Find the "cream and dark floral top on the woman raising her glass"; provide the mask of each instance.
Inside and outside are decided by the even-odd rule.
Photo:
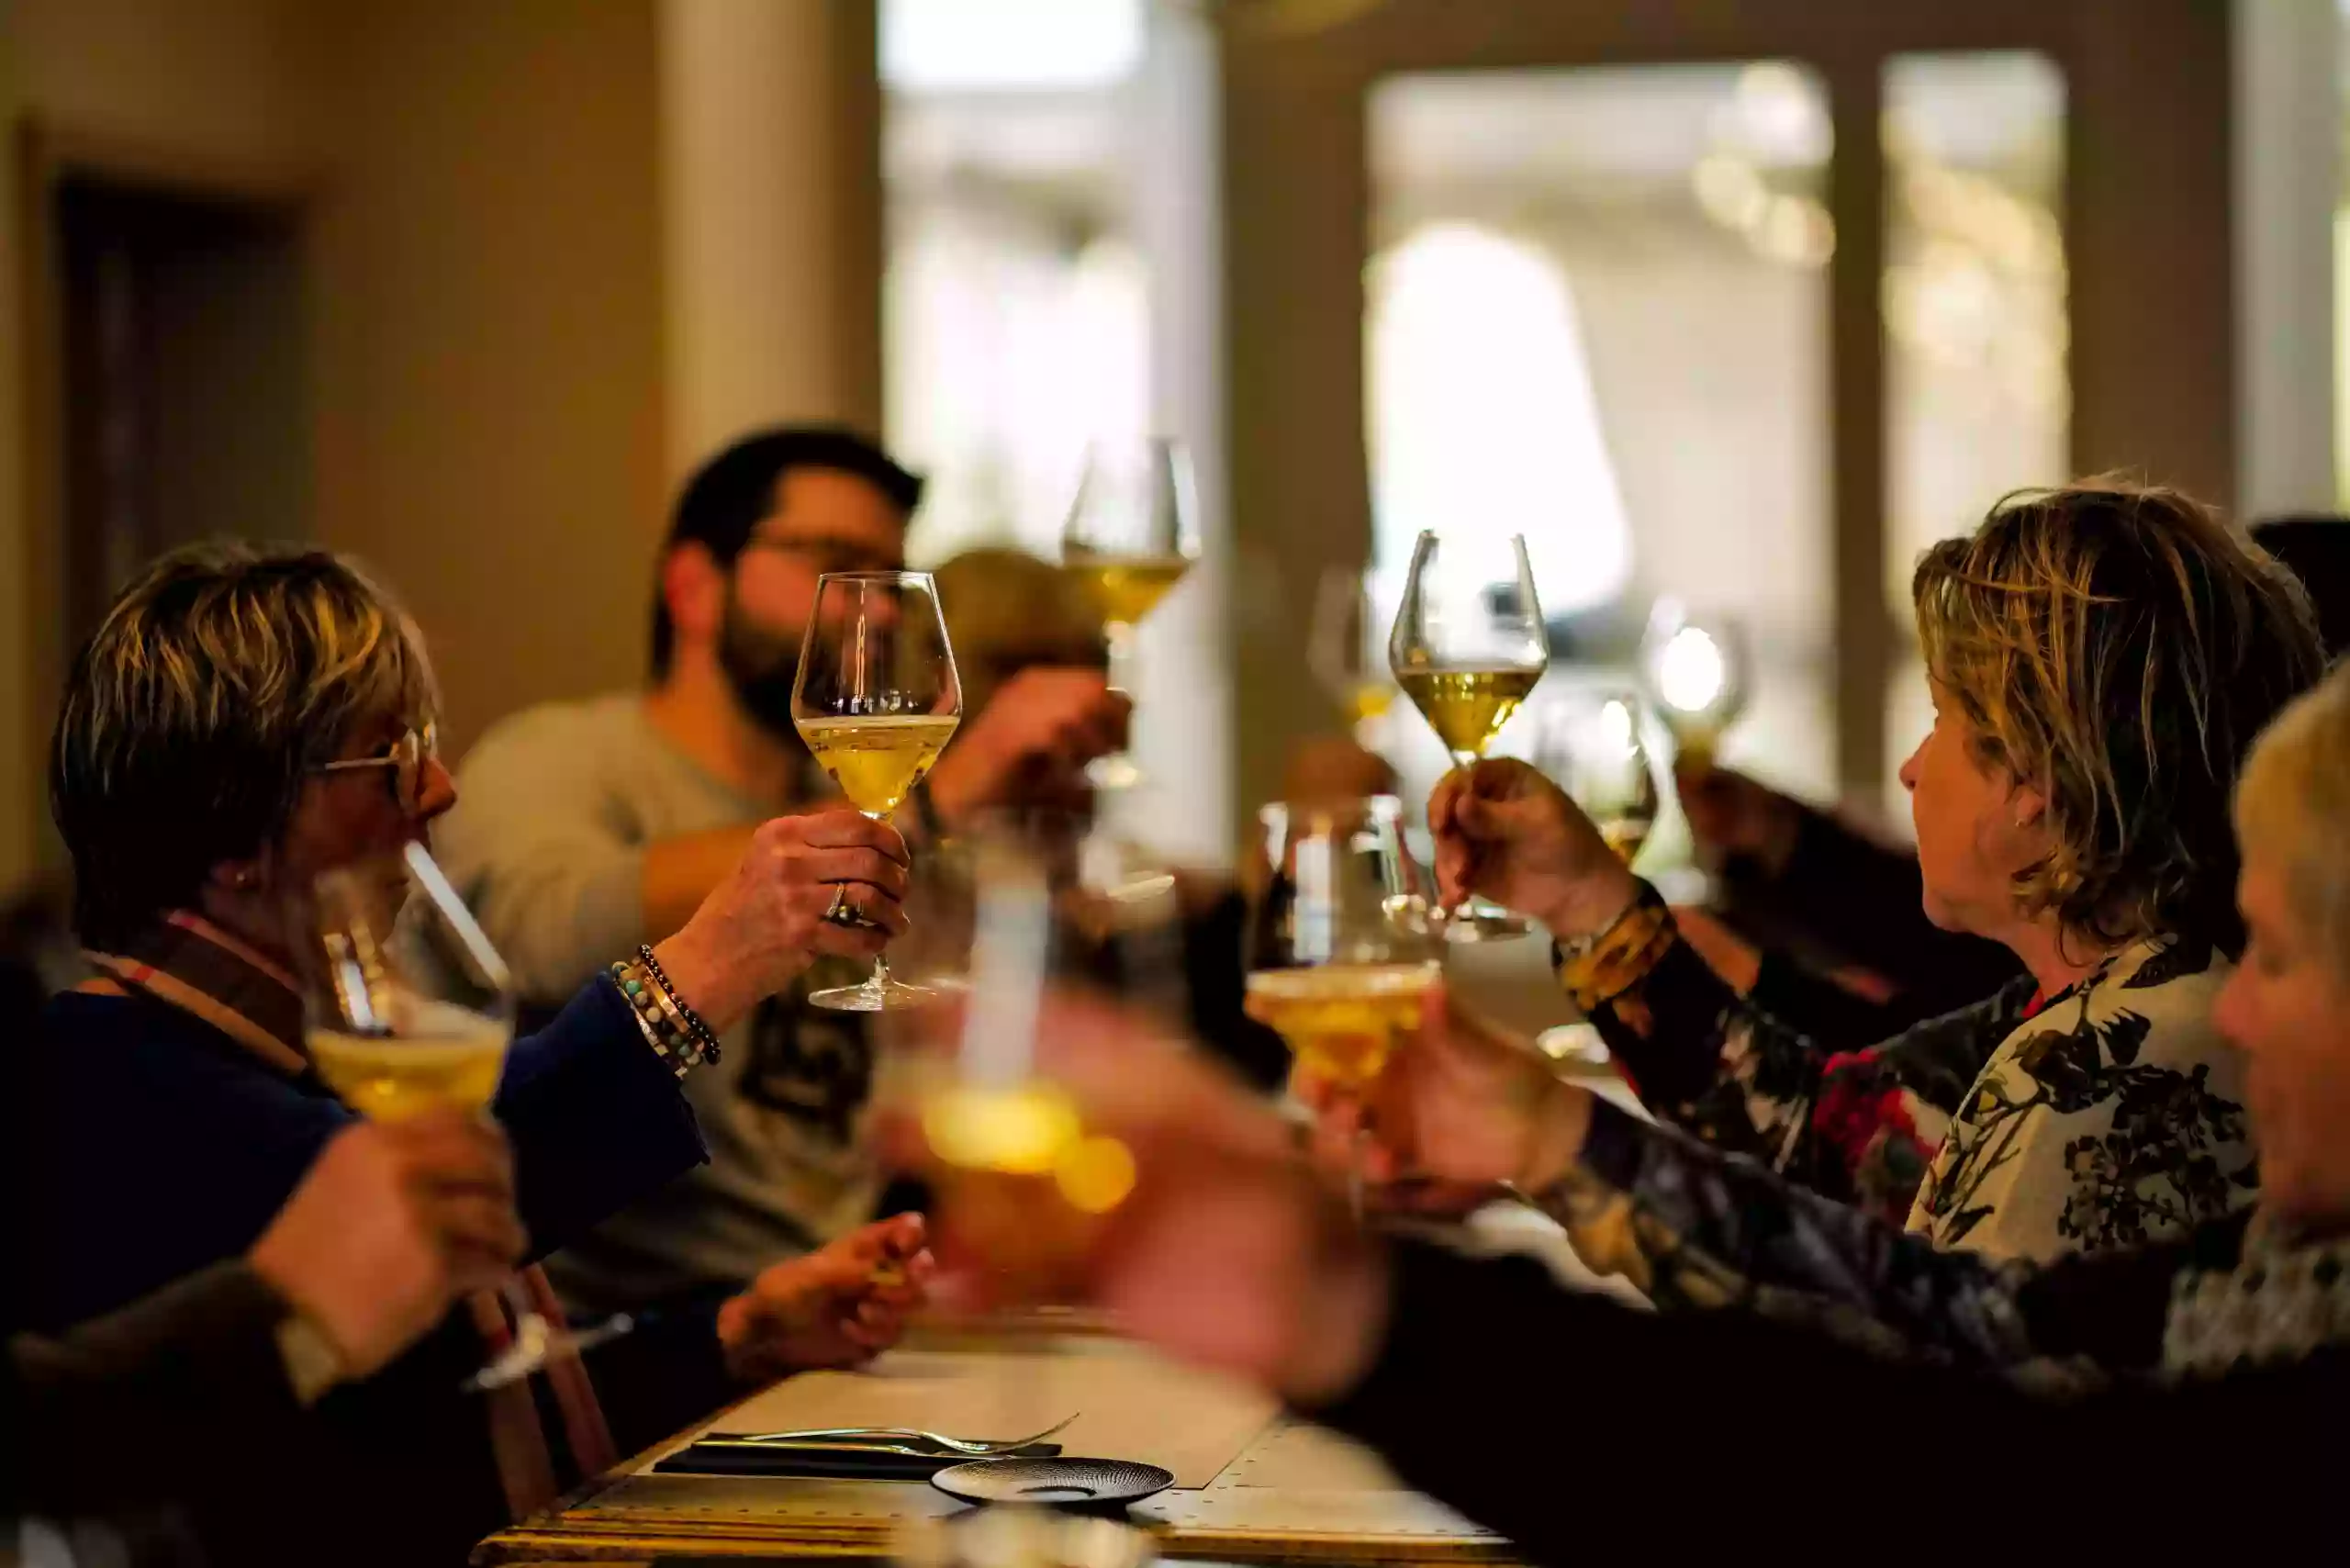
[[[2256,1197],[2228,961],[2190,938],[2030,978],[1854,1053],[1732,992],[1650,893],[1560,983],[1661,1119],[1934,1246],[2049,1262],[2183,1237]]]

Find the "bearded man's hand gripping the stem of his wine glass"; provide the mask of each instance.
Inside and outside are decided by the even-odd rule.
[[[1086,764],[1126,745],[1133,703],[1079,665],[1029,665],[964,719],[931,769],[931,802],[947,820],[996,806],[1081,806]]]

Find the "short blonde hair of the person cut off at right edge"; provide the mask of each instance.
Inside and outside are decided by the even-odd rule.
[[[2265,863],[2287,865],[2294,919],[2336,973],[2350,973],[2350,668],[2261,731],[2235,788],[2235,830]]]

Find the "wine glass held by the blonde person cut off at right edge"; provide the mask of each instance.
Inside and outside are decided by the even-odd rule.
[[[1368,1093],[1443,971],[1443,919],[1405,853],[1403,802],[1274,804],[1257,823],[1248,1013],[1307,1074]],[[1349,1197],[1361,1213],[1361,1159]]]

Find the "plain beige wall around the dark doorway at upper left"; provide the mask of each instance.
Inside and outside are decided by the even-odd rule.
[[[313,193],[317,531],[432,637],[463,745],[642,665],[663,487],[653,0],[12,0],[0,118]],[[0,165],[0,889],[38,858],[54,538]]]

